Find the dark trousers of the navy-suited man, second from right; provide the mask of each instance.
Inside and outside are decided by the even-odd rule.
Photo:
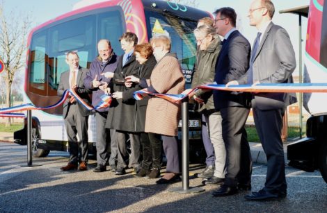
[[[244,125],[249,108],[228,107],[221,109],[223,140],[226,148],[225,185],[249,185],[252,174],[252,157]]]

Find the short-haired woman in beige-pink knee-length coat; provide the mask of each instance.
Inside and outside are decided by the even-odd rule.
[[[171,42],[166,36],[154,37],[151,41],[157,65],[154,67],[149,92],[180,94],[185,80],[175,53],[170,53]],[[180,180],[180,160],[178,154],[177,128],[180,120],[180,104],[152,96],[147,104],[145,132],[160,134],[163,151],[167,158],[165,175],[157,184]]]

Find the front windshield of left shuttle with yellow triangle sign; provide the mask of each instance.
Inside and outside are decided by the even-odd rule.
[[[196,62],[196,38],[193,30],[197,20],[184,19],[173,13],[154,12],[145,10],[147,22],[147,37],[153,37],[156,31],[168,35],[172,40],[171,52],[177,53],[186,80],[186,87],[190,87],[192,72]]]

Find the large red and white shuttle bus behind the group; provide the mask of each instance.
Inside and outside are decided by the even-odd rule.
[[[138,35],[139,43],[148,42],[154,35],[168,35],[172,51],[177,53],[182,70],[190,87],[196,61],[196,39],[193,30],[198,19],[210,17],[208,12],[157,0],[111,0],[79,6],[71,12],[51,19],[31,31],[28,38],[27,65],[24,90],[26,102],[36,106],[56,103],[61,73],[67,51],[78,51],[81,67],[90,67],[97,56],[97,41],[109,39],[119,56],[119,37],[131,31]],[[98,1],[99,2],[99,1]],[[49,151],[67,151],[67,136],[62,107],[50,110],[33,110],[33,155],[47,156]],[[190,139],[201,142],[200,117],[190,114]],[[89,118],[90,151],[95,150],[97,137],[95,118]],[[26,125],[14,134],[17,144],[26,144]],[[191,145],[191,144],[190,144]],[[191,146],[190,146],[191,147]]]

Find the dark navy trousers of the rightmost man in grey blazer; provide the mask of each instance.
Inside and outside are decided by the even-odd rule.
[[[260,110],[253,108],[255,127],[267,158],[264,190],[271,194],[286,194],[285,159],[282,146],[282,115],[285,109]]]

